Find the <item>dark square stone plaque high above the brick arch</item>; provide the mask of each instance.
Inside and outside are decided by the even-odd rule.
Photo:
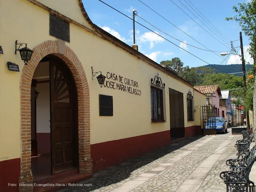
[[[50,14],[50,35],[70,42],[69,23]]]

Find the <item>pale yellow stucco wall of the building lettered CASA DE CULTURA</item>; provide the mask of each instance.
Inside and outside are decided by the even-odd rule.
[[[1,0],[0,3],[0,45],[4,49],[4,55],[0,55],[0,80],[4,80],[0,81],[0,145],[3,146],[0,148],[0,157],[1,160],[6,160],[20,157],[20,78],[24,63],[19,53],[14,54],[14,42],[27,42],[28,48],[33,49],[41,42],[56,38],[49,35],[49,13],[42,8],[26,0]],[[67,4],[69,1],[62,1],[60,9],[68,9],[65,6]],[[19,16],[10,12],[19,13]],[[71,11],[68,13],[72,14]],[[17,32],[17,29],[24,29],[25,21],[26,30]],[[70,43],[66,42],[66,45],[76,53],[87,76],[90,90],[91,144],[170,130],[168,88],[184,93],[185,127],[200,124],[199,110],[196,107],[194,122],[187,121],[186,94],[192,87],[74,24],[70,24]],[[18,64],[20,72],[8,71],[8,61]],[[112,88],[100,88],[97,80],[92,80],[91,66],[94,71],[100,70],[105,76],[107,72],[112,72],[138,82],[137,89],[141,91],[141,96]],[[151,124],[150,79],[157,73],[166,84],[167,122]],[[99,94],[113,96],[114,116],[99,116]],[[194,94],[194,106],[204,105],[205,96],[196,92]]]

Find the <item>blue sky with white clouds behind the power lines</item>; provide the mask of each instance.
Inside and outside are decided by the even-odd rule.
[[[143,24],[144,26],[150,28],[157,34],[160,34],[164,38],[170,40],[174,44],[184,48],[188,52],[198,56],[202,60],[210,64],[238,64],[241,63],[240,57],[235,55],[226,56],[226,60],[223,60],[224,57],[220,56],[220,52],[216,54],[210,51],[199,50],[187,44],[202,48],[210,49],[212,51],[230,51],[230,40],[238,40],[239,32],[241,31],[240,26],[234,21],[226,21],[226,17],[234,16],[235,13],[232,9],[232,6],[237,5],[239,2],[246,2],[246,0],[141,0],[144,4],[158,12],[172,24],[176,25],[178,28],[186,32],[192,38],[200,42],[196,42],[182,31],[174,27],[168,21],[164,20],[158,16],[155,12],[150,10],[139,0],[102,0],[106,4],[116,8],[120,12],[126,14],[132,18],[132,10],[136,9],[138,16],[157,27],[154,28],[152,25],[146,23],[144,20],[136,16],[136,21]],[[248,0],[247,0],[248,1]],[[92,22],[110,34],[116,36],[120,40],[124,41],[128,45],[133,44],[132,38],[132,20],[123,16],[122,14],[116,12],[112,8],[106,6],[98,0],[83,0],[84,7],[88,16]],[[186,12],[191,18],[189,18],[182,10],[180,10],[176,5],[178,5],[184,12]],[[182,4],[184,4],[192,13],[194,13],[196,18],[188,9],[186,9]],[[214,25],[209,26],[204,20],[198,15],[200,14],[197,10],[197,13],[190,7],[196,8]],[[194,5],[194,6],[193,6]],[[206,27],[202,22],[208,27]],[[207,21],[207,20],[206,20]],[[208,22],[208,21],[207,21]],[[216,28],[218,30],[216,30]],[[212,30],[212,31],[211,31]],[[192,56],[188,52],[181,50],[172,43],[164,40],[160,36],[154,34],[150,30],[135,24],[136,32],[136,44],[139,46],[139,51],[142,54],[145,54],[152,60],[160,63],[162,60],[171,60],[174,57],[179,57],[184,66],[196,67],[207,65],[202,60]],[[210,34],[214,37],[212,37]],[[215,34],[214,34],[215,33]],[[222,35],[223,34],[223,35]],[[184,44],[170,36],[185,42]],[[243,33],[243,44],[244,52],[248,48],[248,37]],[[216,40],[217,39],[217,40]],[[219,42],[220,41],[220,42]],[[234,42],[234,47],[240,46],[240,42]],[[236,48],[240,53],[240,48]],[[220,57],[219,57],[220,56]],[[245,53],[245,59],[247,62],[253,63],[250,60],[248,53]]]

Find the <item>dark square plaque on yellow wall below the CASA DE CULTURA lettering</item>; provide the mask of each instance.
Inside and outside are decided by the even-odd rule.
[[[99,95],[100,116],[113,116],[113,97]]]

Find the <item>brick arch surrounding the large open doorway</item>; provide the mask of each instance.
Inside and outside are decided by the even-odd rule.
[[[82,63],[76,54],[65,46],[65,53],[58,53],[57,41],[45,41],[33,49],[31,60],[24,66],[20,82],[21,109],[21,166],[20,183],[32,184],[31,172],[31,104],[30,90],[34,71],[40,60],[48,54],[54,54],[63,60],[72,72],[76,83],[78,97],[78,143],[79,143],[79,172],[92,174],[92,159],[90,157],[90,97],[86,74]],[[26,188],[26,190],[25,190]],[[20,187],[20,191],[31,191],[33,188]]]

